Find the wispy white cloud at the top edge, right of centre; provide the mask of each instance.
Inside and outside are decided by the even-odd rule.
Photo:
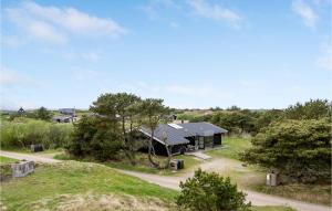
[[[235,11],[222,8],[219,4],[209,4],[205,0],[188,0],[189,6],[194,9],[195,13],[216,21],[226,21],[234,27],[239,27],[241,18]]]

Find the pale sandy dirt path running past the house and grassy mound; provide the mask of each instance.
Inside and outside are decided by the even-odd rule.
[[[9,152],[2,150],[0,150],[0,155],[9,158],[25,159],[25,160],[32,160],[38,162],[48,162],[48,163],[61,162],[60,160],[55,160],[53,158],[42,157],[42,155],[28,155],[28,154]],[[204,162],[199,167],[203,170],[220,171],[230,166],[234,166],[234,163],[231,163],[231,160],[229,159],[215,159],[211,161]],[[175,190],[179,190],[178,184],[180,181],[185,181],[187,178],[194,175],[194,172],[188,172],[175,177],[175,176],[158,176],[158,175],[126,171],[126,170],[118,170],[118,171]],[[247,200],[251,201],[251,203],[255,205],[290,205],[292,208],[295,208],[298,211],[331,211],[332,210],[330,207],[307,203],[302,201],[269,196],[269,194],[259,193],[255,191],[243,190],[243,192],[248,194]]]

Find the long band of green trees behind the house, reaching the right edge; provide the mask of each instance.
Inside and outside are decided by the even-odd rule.
[[[249,134],[255,136],[272,122],[282,119],[319,119],[331,118],[331,103],[328,99],[311,99],[304,104],[297,103],[287,109],[241,109],[231,106],[227,109],[212,108],[211,114],[186,115],[180,114],[180,119],[189,122],[210,122],[228,130],[229,135]]]

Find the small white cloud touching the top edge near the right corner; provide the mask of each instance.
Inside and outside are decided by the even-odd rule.
[[[315,27],[318,15],[308,3],[304,3],[302,0],[295,0],[292,3],[292,10],[303,19],[307,27]]]

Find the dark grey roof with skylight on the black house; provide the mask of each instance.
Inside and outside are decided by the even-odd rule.
[[[151,137],[151,129],[142,128],[141,131]],[[154,139],[168,145],[188,144],[186,137],[211,136],[214,134],[225,134],[226,129],[209,123],[185,123],[185,124],[160,124],[154,131]]]

